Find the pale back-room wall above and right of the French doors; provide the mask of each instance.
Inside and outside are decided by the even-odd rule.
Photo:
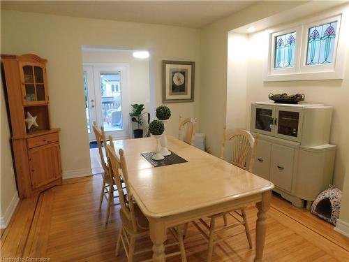
[[[143,112],[150,112],[150,83],[149,83],[149,59],[133,57],[133,51],[129,50],[103,50],[83,49],[82,62],[85,63],[106,63],[106,64],[128,64],[129,81],[128,89],[130,103],[144,104]],[[122,87],[121,87],[122,89]],[[131,112],[131,106],[128,108]],[[147,117],[144,115],[144,128],[147,126]],[[133,123],[133,128],[137,125]]]

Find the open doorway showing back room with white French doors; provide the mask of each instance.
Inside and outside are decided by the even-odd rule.
[[[135,50],[82,46],[85,109],[89,131],[91,169],[103,172],[92,124],[114,140],[133,138],[138,126],[128,115],[131,103],[144,104],[144,112],[155,112],[154,61],[137,58]],[[93,100],[93,101],[92,101]],[[120,120],[121,115],[121,120]],[[114,118],[113,118],[114,117]],[[147,123],[142,126],[147,130]],[[144,132],[145,133],[145,132]]]

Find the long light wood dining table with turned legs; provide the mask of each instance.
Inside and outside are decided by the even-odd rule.
[[[154,168],[140,153],[155,145],[154,138],[114,141],[116,150],[124,150],[133,196],[149,220],[153,261],[165,261],[167,228],[254,203],[254,261],[262,261],[274,184],[172,136],[168,149],[188,162]]]

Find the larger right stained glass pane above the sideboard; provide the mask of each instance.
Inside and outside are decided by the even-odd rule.
[[[334,21],[309,28],[308,52],[306,53],[307,66],[333,62],[337,22]]]

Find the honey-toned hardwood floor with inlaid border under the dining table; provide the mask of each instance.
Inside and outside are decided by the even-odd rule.
[[[50,261],[126,261],[124,251],[114,256],[119,233],[119,208],[105,225],[105,202],[98,210],[101,176],[65,180],[39,196],[20,201],[12,221],[1,232],[1,257],[49,257]],[[247,208],[255,238],[257,209]],[[223,219],[222,219],[223,220]],[[220,221],[223,224],[223,221]],[[349,261],[349,240],[333,226],[305,209],[272,196],[263,261]],[[170,240],[170,237],[169,237]],[[205,261],[207,242],[194,226],[184,240],[188,261]],[[150,247],[140,240],[138,247]],[[245,235],[215,245],[213,261],[253,261]],[[147,259],[151,253],[136,256]],[[180,261],[173,257],[168,261]]]

